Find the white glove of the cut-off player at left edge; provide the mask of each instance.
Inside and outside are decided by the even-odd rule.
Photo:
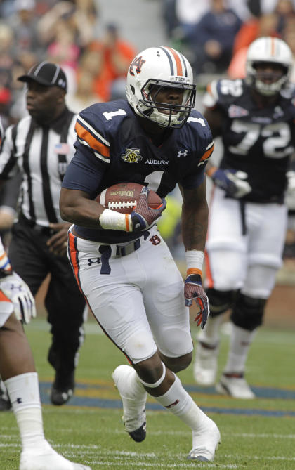
[[[12,273],[0,279],[0,289],[13,303],[16,318],[24,323],[29,323],[36,317],[36,306],[32,292],[25,281],[16,273]]]

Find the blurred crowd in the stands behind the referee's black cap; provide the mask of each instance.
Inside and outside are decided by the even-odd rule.
[[[136,48],[119,38],[116,24],[100,24],[95,0],[4,0],[0,18],[0,114],[5,127],[26,113],[16,77],[41,60],[63,67],[73,111],[122,94]]]

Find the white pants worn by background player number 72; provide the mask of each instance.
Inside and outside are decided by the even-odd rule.
[[[282,266],[287,208],[246,202],[244,223],[243,235],[240,201],[214,188],[206,241],[206,287],[242,289],[243,294],[268,299]]]

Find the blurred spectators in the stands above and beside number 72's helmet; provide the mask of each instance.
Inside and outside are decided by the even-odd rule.
[[[164,0],[163,18],[197,74],[244,77],[247,48],[261,36],[280,37],[295,51],[294,0]]]

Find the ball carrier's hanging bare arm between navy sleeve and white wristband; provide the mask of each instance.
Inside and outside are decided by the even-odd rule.
[[[206,180],[195,189],[181,188],[183,207],[181,233],[185,250],[204,251],[208,227],[208,204],[206,200]]]

